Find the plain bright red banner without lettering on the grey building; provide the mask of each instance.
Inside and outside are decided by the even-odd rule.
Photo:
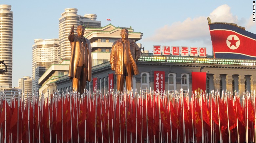
[[[191,72],[192,74],[192,92],[194,93],[195,90],[197,92],[200,91],[200,89],[203,90],[203,92],[206,89],[206,72]]]

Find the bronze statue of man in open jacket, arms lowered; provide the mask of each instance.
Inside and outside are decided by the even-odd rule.
[[[128,39],[128,30],[121,30],[121,39],[115,41],[110,53],[111,69],[117,76],[117,90],[122,92],[124,77],[127,91],[133,87],[133,75],[139,74],[136,62],[140,57],[139,46],[133,40]]]

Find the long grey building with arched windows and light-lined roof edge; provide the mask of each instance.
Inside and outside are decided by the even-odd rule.
[[[244,92],[256,90],[256,60],[214,59],[178,56],[150,56],[142,54],[137,62],[139,74],[133,77],[133,90],[154,89],[154,71],[164,71],[165,90],[192,91],[191,72],[206,72],[206,92],[210,90]],[[98,89],[108,90],[108,76],[114,73],[109,63],[93,67],[92,76],[97,77]],[[115,74],[115,73],[114,73]],[[92,89],[92,81],[88,84]],[[114,90],[116,78],[114,75]]]

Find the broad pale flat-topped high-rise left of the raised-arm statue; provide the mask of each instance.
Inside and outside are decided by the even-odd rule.
[[[32,90],[38,90],[42,85],[38,79],[52,65],[59,61],[58,39],[35,39],[32,47]]]

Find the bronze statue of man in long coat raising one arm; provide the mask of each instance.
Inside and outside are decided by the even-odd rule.
[[[82,94],[86,88],[86,81],[92,78],[91,42],[84,37],[84,26],[78,25],[74,34],[74,25],[71,27],[68,39],[71,44],[71,59],[69,78],[72,80],[73,91]]]

